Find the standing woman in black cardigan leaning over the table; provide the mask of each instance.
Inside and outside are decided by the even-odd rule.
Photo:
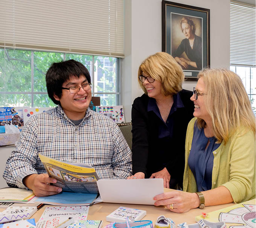
[[[192,92],[182,89],[184,74],[165,52],[146,58],[138,70],[144,91],[132,107],[133,176],[163,178],[164,187],[182,186],[187,124],[193,115]]]

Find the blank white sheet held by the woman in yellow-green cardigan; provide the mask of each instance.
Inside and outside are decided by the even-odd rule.
[[[154,196],[163,193],[163,179],[98,180],[103,202],[154,205]]]

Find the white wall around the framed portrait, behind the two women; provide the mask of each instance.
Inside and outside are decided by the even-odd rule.
[[[210,9],[210,65],[229,68],[229,0],[179,0],[178,3]],[[125,0],[125,59],[123,105],[125,121],[131,120],[131,104],[143,94],[137,82],[140,63],[162,51],[162,0]],[[184,82],[192,90],[195,82]]]

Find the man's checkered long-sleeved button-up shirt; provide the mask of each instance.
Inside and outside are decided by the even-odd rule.
[[[89,108],[78,126],[67,118],[61,106],[31,117],[6,162],[3,178],[9,186],[26,188],[22,182],[25,176],[46,173],[38,153],[89,164],[101,179],[131,175],[131,150],[119,127]]]

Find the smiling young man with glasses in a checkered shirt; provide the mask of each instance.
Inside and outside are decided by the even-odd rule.
[[[46,86],[56,108],[32,117],[24,126],[3,177],[11,187],[29,188],[36,196],[59,193],[38,153],[93,166],[101,179],[131,175],[131,150],[119,127],[108,117],[88,109],[91,78],[75,60],[53,63]]]

